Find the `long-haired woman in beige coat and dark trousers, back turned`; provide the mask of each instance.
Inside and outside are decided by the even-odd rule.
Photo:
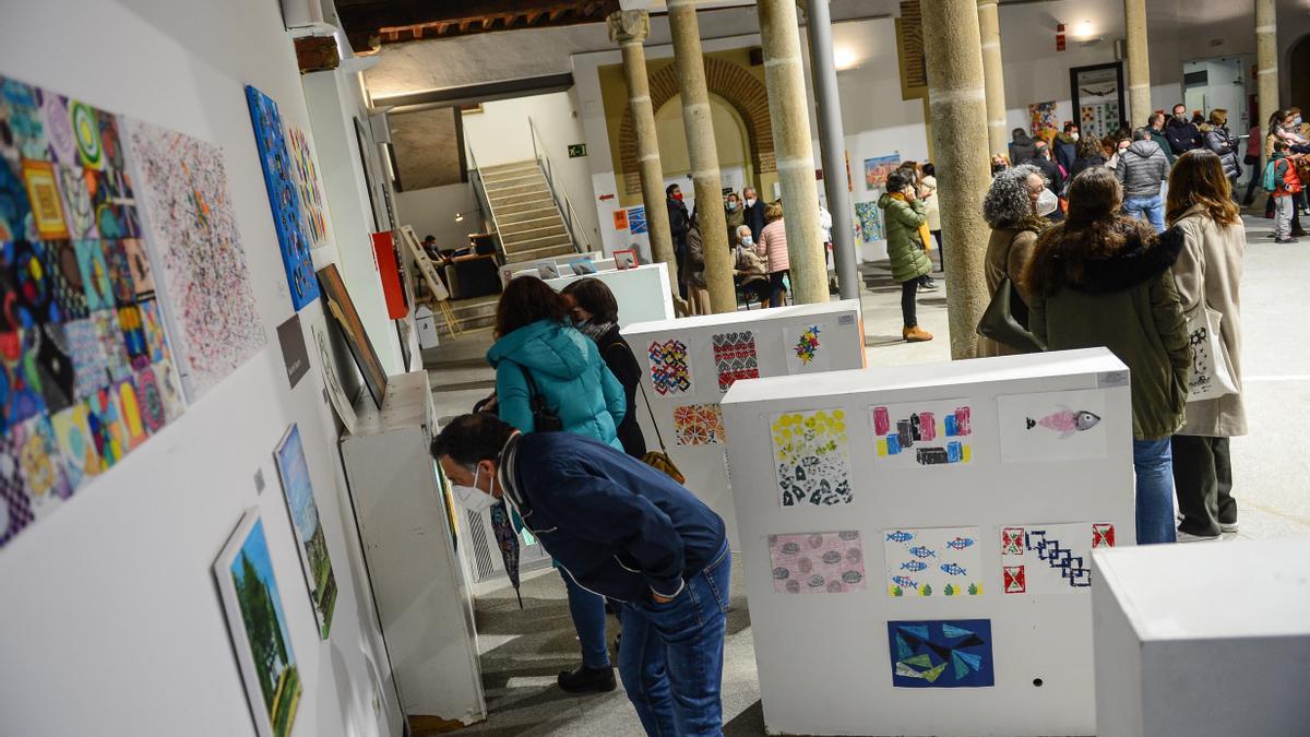
[[[1238,299],[1246,229],[1218,156],[1201,149],[1178,157],[1169,177],[1167,218],[1184,240],[1174,264],[1183,313],[1209,307],[1222,315],[1220,337],[1238,387],[1237,393],[1188,401],[1187,421],[1172,441],[1174,488],[1183,515],[1178,542],[1217,540],[1222,532],[1237,532],[1229,438],[1246,434]]]

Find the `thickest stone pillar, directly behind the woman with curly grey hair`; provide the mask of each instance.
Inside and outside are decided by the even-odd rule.
[[[922,4],[922,13],[937,193],[947,244],[951,358],[973,358],[979,319],[989,302],[982,262],[990,229],[982,220],[982,197],[992,186],[979,12],[976,0],[933,0]]]

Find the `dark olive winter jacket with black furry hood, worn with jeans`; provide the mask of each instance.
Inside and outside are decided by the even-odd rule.
[[[1065,270],[1051,285],[1053,292],[1041,289],[1030,269],[1028,329],[1049,350],[1110,349],[1129,368],[1133,438],[1162,439],[1183,424],[1192,363],[1187,323],[1170,271],[1183,239],[1178,231],[1157,237],[1150,226],[1127,218],[1116,219],[1114,227],[1127,236],[1124,247],[1108,257],[1086,257],[1077,278],[1064,264]],[[1034,265],[1062,237],[1062,224],[1043,233]]]

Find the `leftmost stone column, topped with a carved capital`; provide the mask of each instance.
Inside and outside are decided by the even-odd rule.
[[[673,235],[664,205],[664,167],[659,160],[659,140],[655,136],[655,110],[651,108],[650,80],[646,76],[646,49],[642,42],[650,34],[650,16],[646,10],[618,10],[605,18],[609,39],[624,51],[624,77],[627,81],[627,105],[637,131],[637,167],[642,176],[642,202],[646,203],[646,228],[651,240],[651,257],[668,265],[669,289],[677,294],[677,257],[673,254]]]

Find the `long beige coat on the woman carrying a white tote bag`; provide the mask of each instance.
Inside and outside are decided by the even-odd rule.
[[[1186,424],[1179,435],[1229,438],[1246,434],[1242,401],[1242,316],[1239,286],[1246,228],[1242,223],[1220,226],[1195,206],[1174,223],[1183,236],[1183,250],[1174,262],[1174,283],[1183,315],[1207,306],[1220,320],[1220,341],[1227,353],[1237,393],[1187,403]]]

